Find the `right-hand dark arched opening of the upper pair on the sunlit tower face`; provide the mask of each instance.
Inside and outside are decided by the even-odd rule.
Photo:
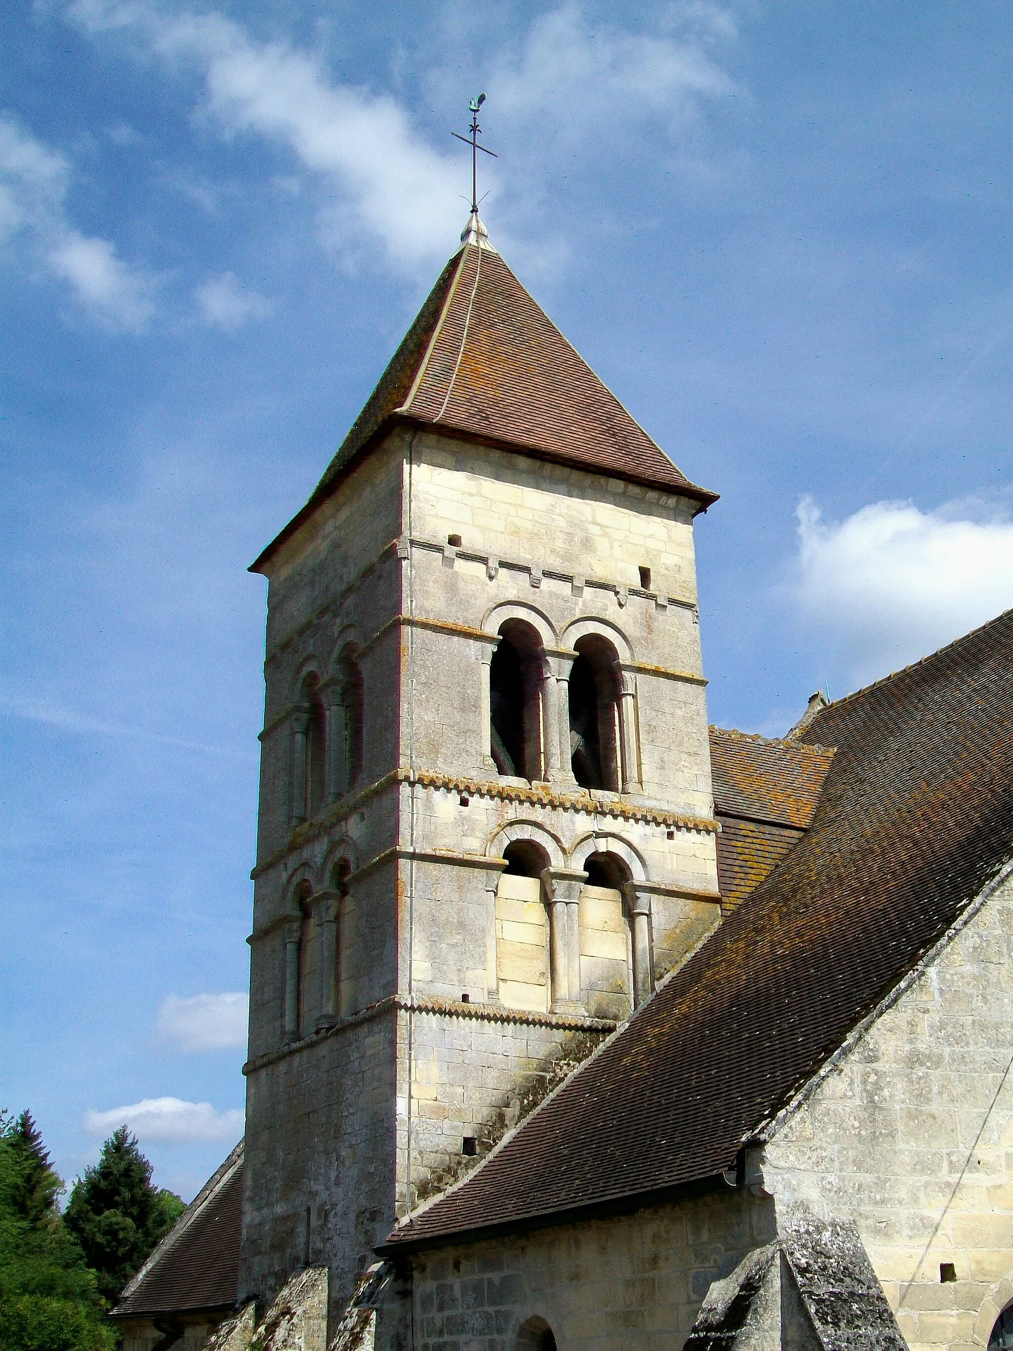
[[[570,763],[581,788],[619,792],[619,654],[600,634],[577,640],[570,670]]]

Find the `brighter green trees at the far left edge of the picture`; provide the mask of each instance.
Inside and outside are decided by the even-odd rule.
[[[0,1112],[0,1351],[108,1351],[95,1273],[57,1208],[63,1183],[27,1112]]]

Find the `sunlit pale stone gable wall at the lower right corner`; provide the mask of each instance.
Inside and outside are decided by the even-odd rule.
[[[778,1208],[854,1220],[912,1348],[985,1346],[1013,1300],[1012,958],[1008,880],[766,1147]]]

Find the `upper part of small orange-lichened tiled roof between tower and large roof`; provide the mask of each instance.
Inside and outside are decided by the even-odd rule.
[[[832,759],[833,747],[712,727],[715,811],[805,830]]]

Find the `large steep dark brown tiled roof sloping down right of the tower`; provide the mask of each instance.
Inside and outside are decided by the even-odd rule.
[[[1013,611],[832,704],[808,834],[513,1136],[430,1243],[716,1177],[1013,854]]]

